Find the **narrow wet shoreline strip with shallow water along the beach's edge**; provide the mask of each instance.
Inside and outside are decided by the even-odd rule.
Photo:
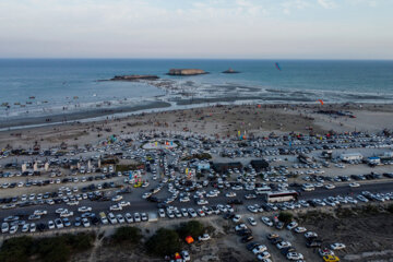
[[[126,119],[132,115],[152,114],[152,112],[168,112],[176,110],[192,110],[192,109],[206,109],[210,107],[230,107],[230,106],[259,106],[261,108],[288,108],[290,110],[299,109],[337,109],[340,110],[371,110],[379,111],[378,108],[382,108],[382,111],[392,111],[393,104],[388,103],[325,103],[324,106],[315,104],[312,99],[310,102],[286,102],[281,103],[267,103],[267,100],[260,99],[260,97],[215,97],[215,98],[191,98],[191,99],[169,99],[168,102],[150,102],[144,105],[136,106],[123,106],[117,108],[100,108],[93,110],[81,110],[67,114],[55,114],[52,116],[38,116],[38,117],[23,117],[15,119],[8,119],[0,122],[0,132],[12,130],[26,130],[34,128],[45,128],[59,124],[72,124],[72,123],[86,123],[86,122],[100,122],[110,119]],[[50,121],[47,121],[50,119]]]

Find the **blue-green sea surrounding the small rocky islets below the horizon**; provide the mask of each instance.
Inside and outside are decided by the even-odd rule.
[[[207,74],[167,75],[172,68]],[[233,69],[239,73],[225,74]],[[114,82],[154,74],[155,83]],[[166,86],[166,87],[163,87]],[[169,87],[168,87],[169,86]],[[168,103],[393,103],[393,61],[209,59],[0,59],[1,119]]]

